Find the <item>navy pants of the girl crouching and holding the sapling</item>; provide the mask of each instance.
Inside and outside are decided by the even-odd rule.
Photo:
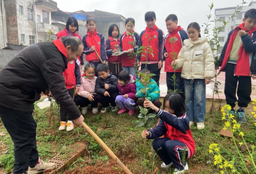
[[[152,143],[153,149],[166,165],[173,163],[174,167],[183,170],[186,161],[182,161],[182,151],[186,145],[180,141],[170,138],[158,138]],[[185,159],[188,157],[188,150],[185,152]]]

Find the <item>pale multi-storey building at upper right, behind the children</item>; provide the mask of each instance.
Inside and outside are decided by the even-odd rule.
[[[220,21],[216,23],[217,27],[223,26],[223,21],[228,21],[229,18],[232,16],[233,13],[235,13],[237,7],[226,7],[226,8],[219,8],[215,9],[215,16],[216,19],[219,19]],[[219,53],[221,53],[224,44],[228,38],[228,33],[233,30],[235,27],[238,27],[241,23],[243,23],[244,14],[247,10],[256,8],[256,0],[251,0],[249,4],[244,5],[240,12],[236,13],[236,17],[233,17],[229,23],[227,23],[226,27],[223,28],[223,30],[219,33],[218,39],[219,39]]]

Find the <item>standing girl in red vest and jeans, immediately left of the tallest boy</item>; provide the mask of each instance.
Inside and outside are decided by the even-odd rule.
[[[140,38],[139,34],[134,31],[134,26],[135,26],[135,20],[129,17],[125,21],[126,31],[121,35],[120,50],[127,51],[127,54],[121,55],[123,70],[126,70],[129,74],[136,77],[137,74],[136,74],[136,70],[134,69],[134,64],[136,64],[135,57],[128,56],[128,54],[132,54],[134,52],[137,52],[138,50],[138,47],[133,47],[132,44],[130,43],[131,41],[135,41],[136,45],[138,45],[138,41]],[[133,32],[133,37],[127,34],[132,32]]]

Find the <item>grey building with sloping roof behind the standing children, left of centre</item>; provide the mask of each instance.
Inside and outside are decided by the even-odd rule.
[[[120,14],[115,13],[109,13],[101,10],[94,10],[85,12],[83,10],[76,11],[74,13],[77,14],[86,14],[88,17],[93,17],[96,20],[96,28],[99,33],[102,33],[103,36],[108,38],[108,29],[111,24],[115,23],[119,30],[120,30],[120,36],[122,33],[125,32],[125,20],[126,18],[123,17]],[[80,26],[79,26],[80,30]],[[85,34],[85,33],[84,33]],[[83,34],[81,34],[83,36]]]

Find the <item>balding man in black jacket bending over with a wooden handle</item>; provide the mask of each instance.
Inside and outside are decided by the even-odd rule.
[[[84,117],[68,94],[62,74],[67,62],[76,60],[83,48],[76,37],[33,44],[0,71],[0,117],[14,143],[13,174],[37,174],[56,167],[41,161],[37,152],[37,124],[32,113],[41,92],[51,91],[74,123],[83,124]]]

